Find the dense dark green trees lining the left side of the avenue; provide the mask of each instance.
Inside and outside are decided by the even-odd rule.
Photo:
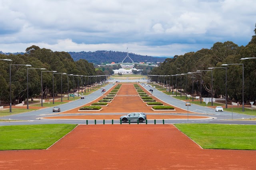
[[[67,73],[74,75],[92,76],[103,75],[101,70],[95,71],[92,63],[84,59],[74,61],[72,57],[66,52],[53,52],[50,49],[40,49],[38,46],[31,46],[26,49],[24,55],[3,55],[0,54],[0,59],[11,59],[12,61],[0,60],[0,101],[10,101],[10,75],[9,69],[11,68],[11,83],[12,83],[12,104],[21,103],[27,98],[27,68],[46,68],[46,70],[57,71],[58,73]],[[10,64],[31,64],[32,66],[26,67],[21,65]],[[28,87],[29,98],[38,96],[41,94],[41,74],[43,82],[43,98],[50,94],[53,95],[52,85],[52,72],[41,72],[40,69],[28,70]],[[43,70],[44,71],[44,70]],[[60,74],[54,74],[54,94],[57,95],[61,89],[61,78],[63,92],[68,91],[68,76]],[[85,78],[85,77],[84,77]],[[87,77],[88,78],[88,77]],[[80,82],[80,76],[69,76],[69,89],[73,89]],[[83,80],[84,82],[84,80]],[[88,84],[88,80],[87,83]]]

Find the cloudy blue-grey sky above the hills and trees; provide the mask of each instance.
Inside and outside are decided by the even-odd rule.
[[[255,19],[255,0],[0,0],[0,51],[173,57],[216,42],[245,46]]]

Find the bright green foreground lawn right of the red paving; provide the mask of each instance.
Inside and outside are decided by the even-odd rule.
[[[256,150],[255,125],[175,124],[204,149]]]

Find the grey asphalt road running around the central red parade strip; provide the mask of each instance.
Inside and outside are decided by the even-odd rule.
[[[108,91],[113,85],[112,82],[128,82],[126,80],[112,80],[110,84],[106,86],[106,90]],[[129,80],[130,81],[130,80]],[[140,83],[146,82],[146,80],[133,80],[133,82],[139,81]],[[153,89],[152,87],[146,87],[144,86],[146,90]],[[66,111],[69,109],[72,109],[74,107],[82,106],[86,103],[89,103],[97,98],[102,96],[101,90],[97,90],[87,96],[85,96],[84,99],[75,100],[72,102],[68,102],[66,104],[62,104],[59,107],[61,108],[61,111]],[[178,100],[173,98],[170,95],[166,95],[163,92],[160,92],[159,90],[153,89],[153,96],[158,98],[159,100],[162,100],[163,102],[166,102],[168,104],[171,104],[175,107],[180,107],[182,109],[188,109],[189,111],[193,111],[196,113],[201,113],[200,115],[204,116],[210,116],[212,119],[165,119],[165,124],[172,124],[172,123],[219,123],[219,124],[250,124],[250,125],[256,125],[256,121],[242,121],[242,119],[249,119],[254,118],[254,116],[250,115],[244,115],[244,114],[238,114],[238,113],[231,113],[231,112],[215,112],[215,109],[212,109],[210,107],[204,107],[204,106],[198,106],[195,104],[192,104],[191,106],[185,106],[185,102],[182,100]],[[93,115],[100,115],[102,113],[93,113]],[[119,114],[119,113],[106,113],[106,114]],[[147,113],[147,114],[155,114],[155,113]],[[157,113],[157,114],[164,114],[164,113]],[[1,119],[12,119],[12,120],[24,120],[24,121],[10,121],[10,122],[0,122],[0,125],[34,125],[34,124],[60,124],[60,123],[70,123],[70,124],[86,124],[86,120],[66,120],[66,119],[58,119],[58,120],[46,120],[46,119],[38,119],[40,117],[45,117],[46,115],[50,116],[59,116],[58,114],[52,114],[52,107],[36,110],[36,111],[30,111],[26,113],[20,113],[16,115],[9,115],[0,117]],[[72,114],[65,114],[65,115],[72,115]],[[74,114],[73,114],[74,115]],[[83,115],[83,114],[81,114]],[[86,115],[91,115],[86,113]],[[170,113],[168,113],[170,115]],[[184,115],[184,114],[175,114],[175,115]],[[186,114],[185,114],[186,115]],[[198,115],[198,114],[189,114],[189,115]],[[233,118],[233,119],[232,119]],[[88,120],[88,124],[94,124],[94,120]],[[97,124],[103,124],[102,120],[97,120]],[[106,124],[111,124],[112,120],[106,120]],[[119,120],[114,120],[114,124],[119,124]],[[137,123],[136,121],[132,121],[131,124]],[[142,123],[146,123],[145,121]],[[154,124],[154,120],[148,120],[148,124]],[[156,124],[162,124],[163,120],[156,120]],[[140,123],[141,124],[141,123]]]

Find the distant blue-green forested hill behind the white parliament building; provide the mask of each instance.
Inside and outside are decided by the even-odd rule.
[[[79,59],[85,59],[89,63],[94,64],[110,64],[112,62],[121,63],[124,58],[127,56],[127,52],[120,52],[120,51],[95,51],[95,52],[68,52],[74,61],[78,61]],[[129,53],[129,57],[135,62],[164,62],[167,57],[152,57],[152,56],[145,56],[145,55],[138,55],[134,53]],[[132,61],[127,57],[124,60],[124,63],[131,63]]]

